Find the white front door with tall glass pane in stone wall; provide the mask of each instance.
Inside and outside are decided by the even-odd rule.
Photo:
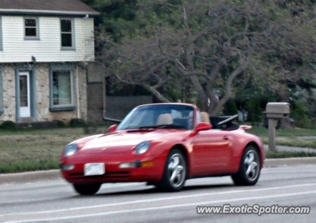
[[[30,72],[20,72],[20,117],[31,117]]]

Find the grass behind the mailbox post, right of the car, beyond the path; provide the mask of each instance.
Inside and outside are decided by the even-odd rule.
[[[264,127],[253,127],[249,133],[256,134],[268,144],[268,129]],[[298,136],[316,136],[316,129],[276,130],[276,145],[286,145],[294,147],[316,148],[316,139],[299,138]]]

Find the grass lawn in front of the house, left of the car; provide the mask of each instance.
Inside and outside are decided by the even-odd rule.
[[[0,130],[0,173],[57,169],[64,146],[84,136],[82,128]]]

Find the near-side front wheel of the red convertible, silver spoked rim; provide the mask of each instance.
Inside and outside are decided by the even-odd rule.
[[[162,179],[155,185],[166,191],[180,191],[187,178],[187,160],[183,152],[179,149],[170,151]]]

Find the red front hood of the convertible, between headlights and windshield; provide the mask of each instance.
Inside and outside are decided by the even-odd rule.
[[[104,151],[107,153],[122,153],[132,150],[137,144],[145,140],[163,140],[166,134],[182,132],[179,130],[129,130],[119,131],[112,134],[104,134],[93,138],[81,147],[80,152]]]

